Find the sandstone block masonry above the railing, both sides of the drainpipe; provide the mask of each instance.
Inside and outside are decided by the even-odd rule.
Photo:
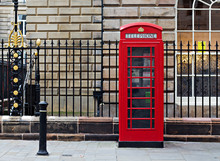
[[[149,22],[163,27],[164,41],[173,41],[174,6],[174,0],[104,0],[104,40],[119,40],[122,25]],[[27,39],[37,39],[34,32],[44,31],[42,39],[100,39],[101,0],[29,0],[27,24]],[[53,36],[54,31],[65,33]]]

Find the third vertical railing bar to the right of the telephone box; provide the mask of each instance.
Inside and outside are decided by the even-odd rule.
[[[183,57],[183,44],[182,41],[180,42],[180,117],[183,117],[183,62],[182,62],[182,57]]]

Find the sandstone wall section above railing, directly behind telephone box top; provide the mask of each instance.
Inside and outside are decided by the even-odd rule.
[[[163,27],[163,40],[175,40],[176,0],[105,0],[104,40],[119,40],[119,28],[134,22]]]

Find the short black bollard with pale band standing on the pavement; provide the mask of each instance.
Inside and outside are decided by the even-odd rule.
[[[37,155],[49,155],[47,152],[47,105],[48,103],[42,101],[40,106],[40,138],[39,151]]]

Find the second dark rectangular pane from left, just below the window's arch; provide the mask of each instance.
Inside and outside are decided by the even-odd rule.
[[[209,29],[209,11],[196,10],[195,11],[195,30]]]

